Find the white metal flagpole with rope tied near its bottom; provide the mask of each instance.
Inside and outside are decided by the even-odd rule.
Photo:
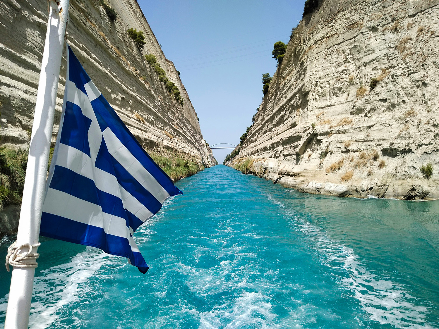
[[[38,243],[40,235],[41,209],[44,201],[61,56],[64,49],[65,27],[68,19],[69,0],[50,0],[48,2],[49,20],[29,145],[17,246],[23,244],[35,245]],[[32,248],[32,253],[36,253],[37,248]],[[23,249],[23,251],[29,250],[28,247],[23,247]],[[20,248],[20,250],[22,249]],[[22,264],[25,263],[26,261],[22,261]],[[14,266],[7,303],[5,329],[28,328],[34,274],[35,267],[20,268]]]

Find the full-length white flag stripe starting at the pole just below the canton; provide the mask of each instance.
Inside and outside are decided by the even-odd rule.
[[[123,207],[141,221],[144,222],[153,215],[139,200],[119,185],[114,175],[94,167],[90,157],[80,150],[60,143],[57,165],[93,180],[99,190],[122,199]]]

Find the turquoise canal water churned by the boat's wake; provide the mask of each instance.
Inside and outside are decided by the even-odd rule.
[[[176,185],[135,233],[146,275],[42,240],[30,327],[439,328],[439,202],[302,194],[222,165]]]

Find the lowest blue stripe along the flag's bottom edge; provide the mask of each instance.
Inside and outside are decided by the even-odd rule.
[[[130,259],[131,264],[137,266],[142,273],[148,271],[144,258],[139,252],[131,250],[128,239],[107,234],[100,227],[79,223],[47,212],[43,212],[43,215],[45,220],[41,222],[41,235],[97,247],[108,254]]]

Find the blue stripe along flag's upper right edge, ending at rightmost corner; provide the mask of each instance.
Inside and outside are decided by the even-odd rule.
[[[119,118],[117,113],[108,104],[104,96],[100,96],[91,102],[97,122],[104,131],[110,127],[122,144],[133,154],[134,157],[144,166],[146,170],[163,186],[170,196],[183,194],[172,182],[168,175],[155,164],[154,160],[146,153],[137,139]]]

